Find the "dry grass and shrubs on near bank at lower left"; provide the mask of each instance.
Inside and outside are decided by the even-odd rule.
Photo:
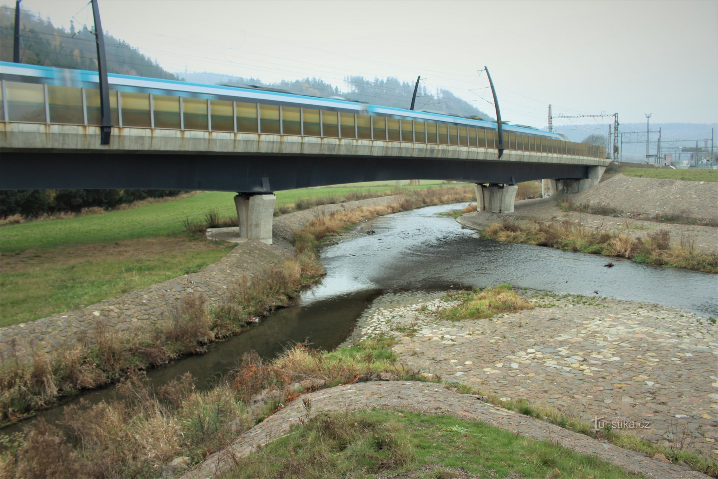
[[[195,391],[186,374],[155,393],[144,374],[133,373],[119,384],[118,401],[81,402],[66,407],[55,426],[41,420],[29,427],[0,454],[0,477],[159,477],[174,457],[195,463],[228,445],[278,401],[287,404],[306,391],[366,381],[378,372],[419,378],[396,361],[392,344],[370,340],[332,353],[297,345],[274,361],[248,353],[226,381],[207,392]],[[256,394],[269,391],[276,391],[274,401],[249,407]]]

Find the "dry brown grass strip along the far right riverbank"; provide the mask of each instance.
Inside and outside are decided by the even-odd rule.
[[[718,273],[718,254],[696,251],[694,238],[686,233],[681,234],[676,245],[671,242],[671,233],[667,230],[648,233],[645,238],[633,238],[628,228],[615,233],[606,231],[602,226],[589,229],[564,220],[561,223],[493,223],[484,228],[482,235],[496,241],[550,246],[618,256],[637,263]]]

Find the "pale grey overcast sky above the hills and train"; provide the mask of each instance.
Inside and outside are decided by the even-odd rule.
[[[11,2],[14,4],[14,2]],[[56,26],[92,24],[88,0],[23,0]],[[10,4],[6,0],[6,4]],[[619,113],[718,121],[718,1],[99,0],[106,32],[167,70],[264,81],[396,76],[448,88],[503,119]],[[407,105],[408,107],[408,105]],[[569,124],[575,120],[556,120]],[[610,123],[610,118],[603,118]],[[590,118],[579,121],[592,123]],[[601,118],[597,118],[601,122]]]

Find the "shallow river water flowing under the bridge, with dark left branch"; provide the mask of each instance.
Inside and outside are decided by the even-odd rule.
[[[622,259],[611,259],[615,266],[607,268],[605,256],[485,241],[454,218],[439,215],[456,208],[463,204],[432,206],[363,223],[349,238],[322,251],[327,276],[304,292],[296,305],[274,312],[236,338],[210,345],[204,355],[148,371],[147,376],[158,387],[190,372],[203,389],[230,372],[249,350],[264,358],[273,358],[294,343],[331,350],[348,338],[374,299],[388,291],[510,283],[559,294],[597,291],[602,296],[668,304],[718,317],[716,275]],[[109,387],[81,397],[96,403],[111,401],[114,395],[114,388]],[[42,411],[38,417],[56,421],[62,417],[62,407]],[[9,434],[23,425],[2,432]]]

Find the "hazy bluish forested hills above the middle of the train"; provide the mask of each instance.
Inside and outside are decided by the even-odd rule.
[[[185,80],[195,83],[255,85],[268,88],[278,88],[299,95],[320,96],[329,98],[340,96],[353,101],[363,101],[373,105],[406,108],[411,106],[411,96],[414,94],[414,83],[402,82],[397,78],[388,77],[386,80],[374,78],[368,80],[362,76],[348,76],[344,78],[344,89],[326,83],[321,78],[303,78],[302,80],[281,80],[279,83],[263,83],[257,78],[243,78],[218,73],[182,73]],[[437,111],[460,116],[478,116],[493,119],[471,103],[454,96],[449,90],[440,89],[431,92],[419,85],[416,93],[416,110]]]

